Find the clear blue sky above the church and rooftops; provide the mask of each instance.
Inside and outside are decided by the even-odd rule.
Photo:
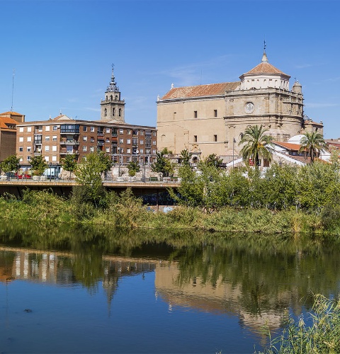
[[[302,84],[305,114],[340,137],[340,1],[0,1],[0,112],[98,120],[111,79],[125,121],[156,125],[157,95],[238,81],[268,60]]]

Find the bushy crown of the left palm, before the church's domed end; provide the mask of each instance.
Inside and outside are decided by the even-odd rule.
[[[273,137],[265,135],[267,131],[268,129],[263,129],[263,125],[249,125],[244,130],[244,135],[239,142],[239,145],[246,143],[241,149],[243,160],[246,164],[249,159],[254,161],[255,169],[259,169],[259,162],[262,158],[271,161],[273,156],[271,149],[268,149]]]

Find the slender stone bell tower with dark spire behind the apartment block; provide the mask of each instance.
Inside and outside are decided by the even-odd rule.
[[[105,99],[101,100],[101,120],[125,122],[125,101],[120,99],[120,91],[115,82],[113,67],[112,64],[111,81],[105,91]]]

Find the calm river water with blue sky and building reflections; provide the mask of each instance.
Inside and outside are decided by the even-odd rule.
[[[0,227],[0,353],[253,353],[312,294],[339,295],[340,246],[290,236]]]

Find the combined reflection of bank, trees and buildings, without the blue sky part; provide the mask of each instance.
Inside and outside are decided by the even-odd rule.
[[[310,309],[313,293],[339,295],[339,243],[334,240],[46,232],[3,225],[0,243],[1,282],[81,285],[91,294],[101,286],[110,309],[120,279],[152,272],[155,297],[166,302],[169,313],[234,316],[239,328],[254,333],[264,323],[279,329],[287,309],[295,314]]]

